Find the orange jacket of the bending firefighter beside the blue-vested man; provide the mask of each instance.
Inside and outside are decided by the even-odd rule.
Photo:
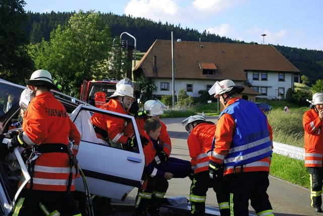
[[[194,127],[187,139],[194,174],[208,170],[208,161],[211,158],[212,140],[216,128],[217,126],[214,124],[200,123]]]

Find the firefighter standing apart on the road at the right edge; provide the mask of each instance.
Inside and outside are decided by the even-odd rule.
[[[323,92],[313,94],[309,102],[311,109],[303,115],[305,167],[307,167],[311,181],[311,205],[314,211],[322,212]]]

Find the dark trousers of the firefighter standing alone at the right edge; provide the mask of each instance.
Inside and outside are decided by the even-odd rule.
[[[321,207],[322,205],[322,187],[323,187],[323,168],[308,167],[309,180],[311,185],[311,206]]]

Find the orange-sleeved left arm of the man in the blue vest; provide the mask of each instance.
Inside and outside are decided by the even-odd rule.
[[[220,154],[227,156],[233,139],[233,133],[235,131],[235,121],[233,117],[229,114],[223,114],[217,123],[216,129],[216,144],[213,150],[213,156],[211,159],[218,163],[222,164],[223,159],[220,159],[215,154]]]

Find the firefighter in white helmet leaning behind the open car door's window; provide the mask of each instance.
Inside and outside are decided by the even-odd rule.
[[[109,102],[103,104],[100,109],[128,115],[129,108],[134,101],[133,83],[126,78],[116,85],[116,91],[109,97]],[[96,136],[113,147],[127,148],[133,146],[132,138],[124,135],[126,120],[118,117],[94,113],[91,117]]]

